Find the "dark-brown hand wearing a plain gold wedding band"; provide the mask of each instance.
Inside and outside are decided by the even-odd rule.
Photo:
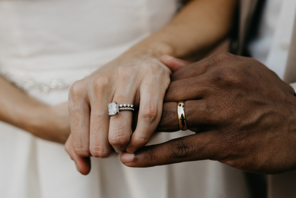
[[[211,159],[255,173],[296,168],[294,90],[266,66],[219,53],[182,67],[171,80],[158,131],[178,130],[177,102],[184,100],[187,127],[197,134],[123,153],[125,165]]]

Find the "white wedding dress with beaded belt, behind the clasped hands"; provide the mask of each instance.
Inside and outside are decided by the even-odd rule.
[[[174,0],[1,0],[1,75],[46,104],[65,102],[73,82],[168,24],[177,7]],[[190,133],[159,133],[150,144]],[[0,162],[3,198],[250,197],[243,172],[209,160],[130,168],[114,155],[92,158],[83,176],[63,145],[3,122]]]

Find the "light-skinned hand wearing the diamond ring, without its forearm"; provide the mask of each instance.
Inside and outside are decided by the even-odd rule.
[[[69,113],[76,155],[104,158],[113,149],[133,153],[146,145],[160,121],[170,73],[159,60],[147,57],[123,64],[112,61],[75,82],[69,93]],[[109,117],[107,104],[113,101],[139,107],[133,134],[131,111]],[[70,155],[71,149],[66,144]]]

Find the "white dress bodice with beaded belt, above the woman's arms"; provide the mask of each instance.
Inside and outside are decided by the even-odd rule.
[[[75,80],[165,26],[175,0],[0,1],[0,72],[24,90]]]

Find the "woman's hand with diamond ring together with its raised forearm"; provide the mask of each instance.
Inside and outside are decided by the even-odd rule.
[[[90,156],[133,153],[147,144],[160,121],[170,83],[171,70],[160,57],[186,56],[215,45],[231,27],[235,3],[191,1],[168,26],[73,84],[69,93],[71,134],[65,149],[79,172],[89,173]],[[113,101],[139,108],[133,133],[132,112],[109,118],[107,104]]]

